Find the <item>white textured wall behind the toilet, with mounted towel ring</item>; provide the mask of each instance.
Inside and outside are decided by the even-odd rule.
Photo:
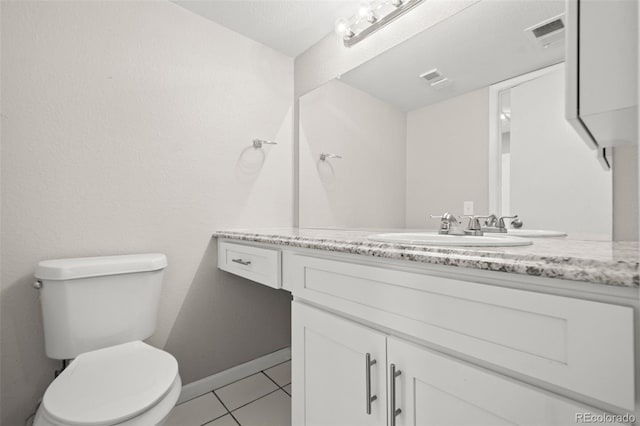
[[[287,346],[288,293],[217,271],[210,236],[291,225],[292,60],[169,2],[1,7],[1,423],[58,367],[41,259],[166,253],[151,343],[185,383]]]

